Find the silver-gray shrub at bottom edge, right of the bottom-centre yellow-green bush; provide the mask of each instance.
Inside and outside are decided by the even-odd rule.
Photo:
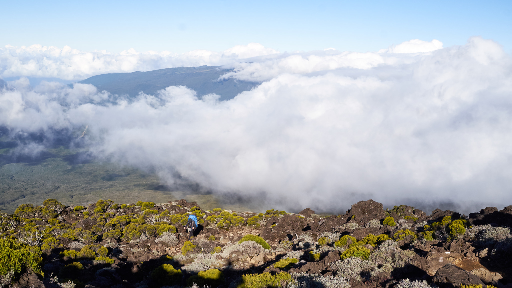
[[[350,282],[342,277],[323,276],[318,274],[292,273],[294,283],[287,288],[350,288]]]

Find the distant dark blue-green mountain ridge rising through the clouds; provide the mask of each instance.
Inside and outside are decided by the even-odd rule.
[[[155,94],[172,85],[194,89],[198,96],[215,93],[220,100],[232,99],[242,91],[250,90],[259,83],[228,79],[218,81],[219,76],[232,70],[221,66],[178,67],[147,72],[110,73],[92,76],[78,83],[92,84],[98,90],[112,94],[137,96],[140,91]]]

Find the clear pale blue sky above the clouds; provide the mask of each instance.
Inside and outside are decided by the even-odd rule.
[[[120,52],[377,51],[419,38],[444,47],[475,35],[512,49],[512,1],[4,1],[0,45]]]

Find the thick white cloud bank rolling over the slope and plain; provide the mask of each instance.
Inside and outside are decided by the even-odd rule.
[[[114,102],[90,85],[31,88],[21,79],[0,94],[0,126],[13,137],[88,126],[80,139],[99,157],[285,208],[336,210],[368,198],[512,204],[510,55],[478,37],[427,52],[414,45],[262,50],[226,77],[263,84],[228,101],[173,86]]]

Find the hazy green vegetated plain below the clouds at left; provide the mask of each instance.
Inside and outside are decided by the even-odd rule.
[[[4,147],[9,146],[7,142],[2,143]],[[166,203],[184,198],[206,209],[223,207],[214,195],[168,191],[156,175],[131,167],[87,160],[77,163],[84,153],[65,147],[48,150],[36,158],[13,158],[12,149],[0,149],[0,209],[4,213],[12,214],[24,203],[40,205],[48,198],[58,199],[65,205],[82,205],[98,199],[112,199],[117,203],[139,200]]]

